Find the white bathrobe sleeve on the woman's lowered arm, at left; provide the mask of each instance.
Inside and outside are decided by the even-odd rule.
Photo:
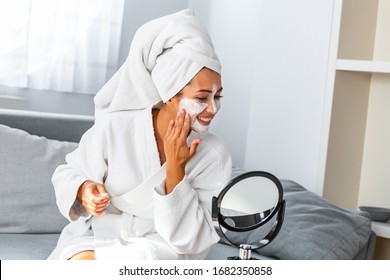
[[[53,173],[57,205],[69,221],[91,216],[76,200],[76,195],[86,180],[103,183],[107,172],[106,139],[104,125],[95,123],[82,136],[78,148],[66,156],[66,164],[58,166]]]

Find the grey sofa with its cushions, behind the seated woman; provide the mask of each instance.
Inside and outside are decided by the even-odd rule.
[[[93,118],[0,109],[0,259],[46,259],[68,221],[50,181]],[[233,177],[244,170],[233,169]],[[296,182],[281,180],[286,215],[279,235],[252,252],[260,259],[371,259],[375,233],[368,213],[337,207]],[[238,243],[259,232],[232,233]],[[236,256],[218,243],[207,259]]]

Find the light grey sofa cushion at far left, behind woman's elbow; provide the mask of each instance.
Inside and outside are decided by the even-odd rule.
[[[50,140],[0,125],[0,233],[56,233],[60,214],[51,176],[77,143]]]

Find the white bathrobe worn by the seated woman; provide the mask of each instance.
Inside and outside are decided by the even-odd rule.
[[[68,259],[95,250],[98,259],[202,259],[219,237],[211,221],[211,200],[231,176],[231,157],[212,133],[202,139],[186,175],[165,194],[151,107],[99,118],[52,178],[57,204],[71,223],[49,259]],[[85,180],[105,185],[106,214],[90,216],[76,200]]]

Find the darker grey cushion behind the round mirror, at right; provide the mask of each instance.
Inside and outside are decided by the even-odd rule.
[[[233,172],[234,176],[241,173]],[[275,239],[258,253],[285,260],[353,259],[366,246],[371,234],[366,212],[338,207],[296,182],[281,183],[286,201],[284,222]],[[252,243],[264,237],[267,227],[270,224],[248,233],[227,234],[237,243]]]

